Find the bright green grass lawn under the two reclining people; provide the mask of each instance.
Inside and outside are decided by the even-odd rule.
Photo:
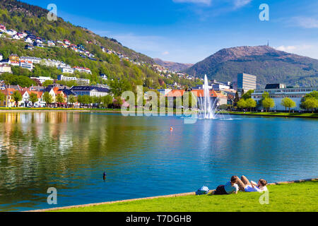
[[[269,204],[261,205],[258,192],[223,196],[179,196],[100,206],[69,208],[62,212],[224,212],[318,211],[318,181],[269,185]]]

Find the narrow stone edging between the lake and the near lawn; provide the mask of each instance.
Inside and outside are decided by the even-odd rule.
[[[300,182],[312,182],[318,180],[317,178],[311,178],[311,179],[296,179],[292,181],[285,181],[285,182],[273,182],[269,183],[268,185],[279,185],[279,184],[293,184],[293,183],[300,183]],[[208,194],[211,194],[213,190],[210,190]],[[47,212],[47,211],[55,211],[55,210],[66,210],[71,208],[83,208],[83,207],[92,207],[92,206],[101,206],[106,204],[112,204],[112,203],[126,203],[131,201],[142,201],[142,200],[149,200],[149,199],[155,199],[155,198],[174,198],[179,196],[195,196],[196,192],[187,192],[187,193],[181,193],[181,194],[170,194],[165,196],[152,196],[152,197],[145,197],[145,198],[131,198],[126,200],[119,200],[119,201],[107,201],[102,203],[88,203],[88,204],[82,204],[82,205],[75,205],[75,206],[63,206],[63,207],[56,207],[56,208],[46,208],[46,209],[38,209],[38,210],[28,210],[23,212]]]

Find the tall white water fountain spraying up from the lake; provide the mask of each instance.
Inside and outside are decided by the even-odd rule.
[[[199,119],[216,119],[217,100],[212,101],[210,90],[208,88],[208,77],[204,76],[204,97],[198,97],[199,102]]]

